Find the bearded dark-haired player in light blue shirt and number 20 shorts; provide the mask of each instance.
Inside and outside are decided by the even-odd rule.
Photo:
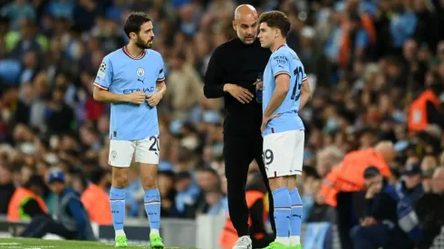
[[[159,123],[156,105],[167,90],[163,60],[150,50],[154,39],[150,17],[131,13],[123,30],[130,43],[108,54],[94,81],[95,101],[111,102],[110,155],[112,187],[110,203],[116,247],[128,246],[123,232],[128,171],[135,153],[145,189],[145,211],[150,220],[150,247],[164,247],[159,235],[160,195]]]

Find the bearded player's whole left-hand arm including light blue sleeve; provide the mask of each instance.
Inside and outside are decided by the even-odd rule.
[[[108,57],[103,59],[97,76],[94,80],[94,90],[92,91],[92,98],[99,102],[130,102],[134,104],[141,104],[145,101],[145,94],[140,91],[132,92],[130,94],[117,94],[108,91],[112,82],[112,63]]]

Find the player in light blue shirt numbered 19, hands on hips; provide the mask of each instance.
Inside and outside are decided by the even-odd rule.
[[[311,98],[304,65],[285,43],[290,21],[271,11],[259,17],[259,41],[272,54],[263,81],[264,163],[275,204],[276,238],[267,248],[301,249],[303,203],[296,188],[302,174],[304,124],[298,116]]]

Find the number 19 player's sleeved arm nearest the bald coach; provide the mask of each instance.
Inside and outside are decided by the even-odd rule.
[[[279,108],[284,102],[286,94],[290,91],[290,65],[287,58],[281,54],[272,55],[270,63],[275,74],[275,91],[264,110],[266,119],[270,118],[275,110]]]

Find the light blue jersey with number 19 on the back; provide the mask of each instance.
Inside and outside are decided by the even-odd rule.
[[[294,51],[286,44],[271,54],[264,72],[264,91],[262,96],[262,109],[265,111],[275,91],[275,77],[281,73],[290,75],[290,91],[284,102],[273,114],[282,114],[270,120],[265,127],[264,136],[270,133],[284,132],[294,129],[305,129],[304,123],[298,115],[301,101],[301,87],[307,76],[304,65]]]

